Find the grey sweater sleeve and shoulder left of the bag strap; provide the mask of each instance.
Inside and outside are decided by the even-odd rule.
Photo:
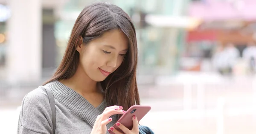
[[[17,134],[52,134],[52,113],[47,93],[41,87],[22,101]]]

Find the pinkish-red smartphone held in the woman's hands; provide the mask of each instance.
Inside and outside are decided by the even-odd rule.
[[[140,122],[140,120],[149,112],[150,109],[151,109],[151,106],[141,106],[141,105],[131,106],[126,111],[126,113],[123,114],[119,120],[117,120],[117,122],[121,123],[126,128],[131,130],[133,127],[132,117],[135,115],[137,117],[138,122]],[[124,133],[118,126],[116,126],[116,123],[115,125],[113,125],[113,127],[116,128],[118,131]],[[111,130],[108,130],[108,132],[110,134],[114,134],[113,131]]]

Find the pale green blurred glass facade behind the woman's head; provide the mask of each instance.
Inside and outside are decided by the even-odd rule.
[[[103,0],[104,1],[104,0]],[[66,42],[76,16],[84,5],[93,0],[72,0],[62,9],[63,16],[56,22],[58,42],[58,62],[64,53]],[[134,21],[139,46],[140,75],[172,75],[178,69],[178,57],[184,45],[184,28],[176,25],[150,25],[145,16],[182,17],[185,15],[188,0],[111,0],[124,9]],[[164,20],[156,20],[164,21]],[[178,23],[178,22],[177,22]]]

